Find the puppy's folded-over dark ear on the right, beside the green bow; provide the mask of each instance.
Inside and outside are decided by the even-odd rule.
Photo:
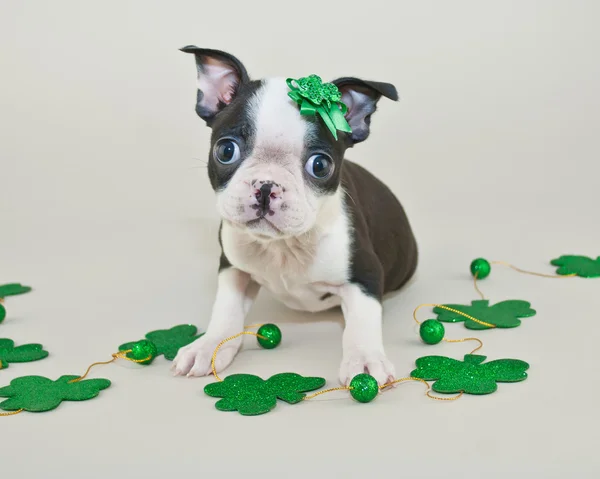
[[[346,120],[352,128],[352,142],[360,143],[369,136],[371,115],[377,109],[377,102],[384,96],[398,100],[396,87],[390,83],[360,80],[359,78],[338,78],[333,83],[342,92],[342,101],[348,107]]]

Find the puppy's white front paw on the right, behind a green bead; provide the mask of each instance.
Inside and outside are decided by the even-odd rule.
[[[352,378],[361,373],[373,376],[380,386],[393,381],[396,376],[393,364],[380,351],[359,348],[344,351],[340,367],[340,382],[348,386]]]

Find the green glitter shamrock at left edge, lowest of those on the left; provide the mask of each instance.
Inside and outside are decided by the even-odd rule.
[[[87,401],[110,386],[108,379],[79,379],[79,376],[61,376],[56,381],[43,376],[23,376],[13,379],[10,386],[0,388],[0,397],[9,398],[0,403],[0,409],[31,412],[50,411],[62,401]]]

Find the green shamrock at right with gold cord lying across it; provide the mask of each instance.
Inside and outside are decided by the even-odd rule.
[[[521,324],[519,318],[528,318],[536,314],[535,309],[531,309],[530,303],[517,299],[509,299],[492,306],[487,299],[471,301],[470,305],[445,304],[444,306],[466,313],[485,323],[493,324],[497,328],[516,328]],[[464,321],[468,329],[490,329],[489,326],[442,308],[434,308],[433,312],[438,315],[440,321],[446,323]]]

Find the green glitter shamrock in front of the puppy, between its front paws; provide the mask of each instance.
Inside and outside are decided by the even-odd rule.
[[[252,374],[232,374],[222,382],[208,384],[204,392],[223,398],[215,407],[219,411],[238,411],[244,416],[265,414],[275,407],[277,398],[289,404],[304,399],[307,391],[325,385],[325,379],[305,378],[296,373],[281,373],[264,380]]]

